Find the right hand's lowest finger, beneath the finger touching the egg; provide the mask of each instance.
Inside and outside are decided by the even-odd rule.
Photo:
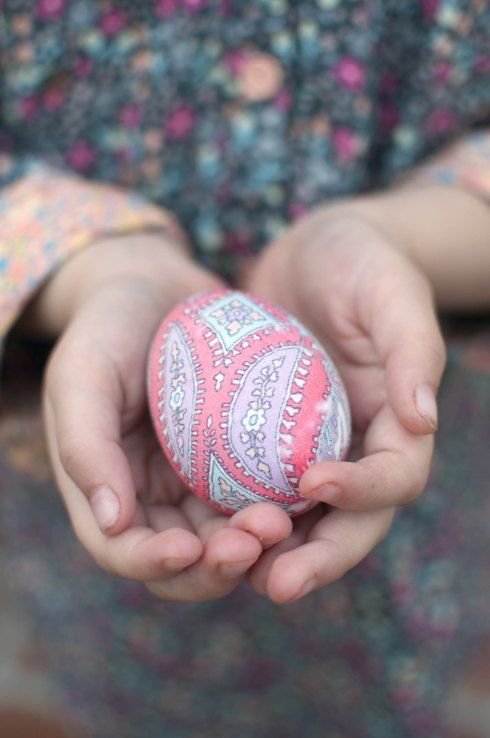
[[[307,543],[276,559],[267,580],[269,597],[278,604],[292,602],[343,577],[385,537],[393,514],[385,509],[326,515]]]

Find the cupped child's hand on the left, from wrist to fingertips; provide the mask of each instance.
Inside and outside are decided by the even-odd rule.
[[[178,300],[220,287],[178,246],[142,234],[73,257],[30,310],[63,329],[50,358],[44,413],[50,456],[75,532],[107,571],[159,597],[221,597],[264,548],[285,539],[269,504],[227,518],[186,491],[166,464],[146,410],[146,357]]]

